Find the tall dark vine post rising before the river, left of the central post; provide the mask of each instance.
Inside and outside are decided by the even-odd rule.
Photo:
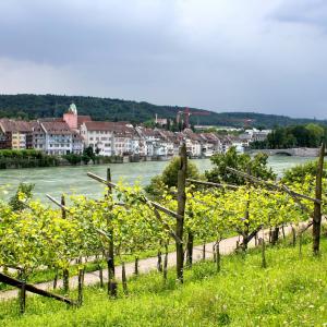
[[[111,171],[110,168],[107,168],[107,185],[108,185],[108,197],[112,197],[112,187],[111,183]],[[109,218],[108,218],[109,219]],[[108,225],[110,221],[108,220]],[[114,247],[113,247],[113,230],[109,228],[109,246],[108,246],[108,294],[110,296],[117,295],[117,283],[114,281]]]

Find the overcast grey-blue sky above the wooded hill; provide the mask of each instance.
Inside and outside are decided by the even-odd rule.
[[[327,119],[327,1],[1,0],[0,93]]]

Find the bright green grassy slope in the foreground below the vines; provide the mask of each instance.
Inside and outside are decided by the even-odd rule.
[[[245,258],[222,257],[219,274],[214,263],[194,265],[185,270],[183,286],[174,270],[166,284],[152,272],[131,279],[129,296],[118,300],[86,288],[80,308],[31,296],[20,316],[16,301],[2,302],[0,326],[326,326],[326,237],[322,253],[313,257],[311,243],[303,245],[301,257],[298,247],[267,249],[263,269],[259,250],[252,250]]]

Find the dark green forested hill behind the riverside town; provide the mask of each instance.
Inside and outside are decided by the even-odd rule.
[[[175,118],[177,112],[184,110],[177,106],[156,106],[148,102],[131,100],[60,95],[0,95],[0,118],[36,119],[61,117],[71,102],[75,102],[80,114],[89,114],[94,120],[131,121],[134,123],[159,118]],[[191,111],[203,109],[190,108]],[[204,110],[209,111],[209,110]],[[191,116],[191,122],[204,125],[243,126],[244,119],[253,120],[251,125],[274,128],[275,125],[305,124],[327,121],[313,119],[294,119],[284,116],[263,114],[255,112],[213,112],[209,116]]]

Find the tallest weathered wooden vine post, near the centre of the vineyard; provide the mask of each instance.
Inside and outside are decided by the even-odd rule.
[[[175,223],[175,235],[179,240],[183,240],[183,230],[184,230],[184,213],[185,213],[185,184],[186,184],[186,169],[187,169],[187,155],[186,155],[186,145],[183,143],[180,149],[180,168],[178,171],[178,217]],[[177,250],[177,277],[178,280],[183,282],[183,264],[184,264],[184,252],[183,243],[175,242]]]

